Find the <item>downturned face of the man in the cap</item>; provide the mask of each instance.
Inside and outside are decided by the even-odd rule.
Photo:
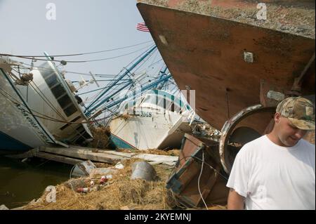
[[[282,146],[291,147],[296,145],[298,140],[305,136],[307,131],[296,128],[286,117],[275,115],[275,126],[277,127],[277,136]]]

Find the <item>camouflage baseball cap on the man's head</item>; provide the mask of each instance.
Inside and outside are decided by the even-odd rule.
[[[277,105],[277,112],[298,129],[315,130],[315,107],[303,97],[289,97]]]

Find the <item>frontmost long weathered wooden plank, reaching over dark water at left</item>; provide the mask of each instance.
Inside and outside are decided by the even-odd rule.
[[[104,152],[91,152],[91,150],[78,148],[60,148],[60,147],[41,147],[41,152],[49,152],[59,154],[67,157],[74,157],[78,159],[91,160],[95,162],[105,162],[107,164],[117,164],[117,162],[126,159],[114,154],[106,154]]]

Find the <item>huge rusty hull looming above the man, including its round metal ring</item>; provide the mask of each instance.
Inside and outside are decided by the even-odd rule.
[[[258,20],[262,3],[266,20]],[[178,87],[195,90],[196,113],[221,130],[226,173],[242,145],[270,132],[279,100],[303,95],[315,103],[315,1],[140,0],[137,7]]]

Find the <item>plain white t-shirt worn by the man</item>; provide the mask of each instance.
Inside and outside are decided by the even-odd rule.
[[[257,138],[237,153],[227,187],[246,197],[246,209],[315,209],[315,145]]]

